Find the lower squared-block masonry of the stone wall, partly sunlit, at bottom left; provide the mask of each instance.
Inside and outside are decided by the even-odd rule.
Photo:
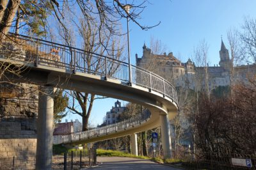
[[[0,169],[35,169],[36,132],[19,122],[0,122]]]

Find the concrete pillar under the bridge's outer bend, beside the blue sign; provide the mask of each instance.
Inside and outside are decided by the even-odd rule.
[[[164,158],[171,158],[172,143],[171,143],[170,127],[169,127],[169,120],[168,120],[167,114],[160,115],[160,123],[161,123],[161,141],[163,146]]]

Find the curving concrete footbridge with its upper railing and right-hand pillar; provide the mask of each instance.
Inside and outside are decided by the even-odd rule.
[[[140,125],[70,143],[100,141],[161,126],[164,155],[170,157],[168,120],[172,120],[177,114],[177,92],[170,82],[137,66],[130,66],[131,72],[129,72],[129,65],[123,61],[74,47],[21,35],[12,35],[11,39],[15,43],[6,42],[6,47],[1,47],[0,61],[12,63],[12,66],[21,66],[22,72],[19,76],[10,73],[8,79],[42,85],[44,86],[41,90],[42,96],[47,94],[46,97],[42,97],[42,101],[40,100],[42,104],[45,103],[46,109],[38,111],[38,119],[42,120],[41,125],[38,125],[38,136],[40,130],[42,134],[52,133],[52,129],[44,121],[51,118],[49,112],[52,114],[52,111],[48,106],[52,107],[53,88],[70,89],[120,98],[144,105],[151,112],[150,118]],[[40,114],[44,116],[40,117]],[[50,131],[45,133],[45,130]],[[45,137],[47,136],[40,140],[52,143],[52,138],[44,139]]]

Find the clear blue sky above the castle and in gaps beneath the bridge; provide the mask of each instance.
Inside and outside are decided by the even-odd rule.
[[[161,21],[161,24],[142,31],[130,22],[132,64],[135,64],[136,53],[139,57],[142,56],[143,43],[149,47],[150,37],[161,40],[166,46],[166,52],[179,55],[183,62],[191,58],[193,49],[200,40],[205,40],[209,45],[209,65],[218,64],[221,35],[228,48],[227,31],[240,29],[246,16],[256,19],[254,0],[151,0],[150,3],[141,14],[140,23],[152,26]],[[95,101],[91,123],[102,123],[103,117],[115,101],[112,98]],[[69,114],[67,118],[75,120],[79,116]]]

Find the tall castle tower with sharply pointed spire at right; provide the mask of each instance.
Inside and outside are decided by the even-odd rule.
[[[221,47],[220,47],[220,66],[225,68],[225,70],[230,70],[231,61],[228,54],[228,49],[226,49],[222,38],[221,38]]]

